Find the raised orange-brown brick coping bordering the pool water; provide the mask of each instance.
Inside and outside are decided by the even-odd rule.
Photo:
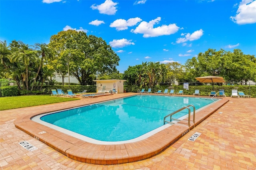
[[[126,93],[124,95],[132,96],[136,94]],[[116,99],[118,99],[124,97],[124,95],[112,95],[111,98],[114,99],[116,97]],[[187,95],[182,96],[184,97]],[[97,98],[84,99],[84,101],[91,104],[98,102]],[[229,100],[227,98],[223,98],[222,100],[210,105],[209,107],[198,111],[196,113],[195,125],[198,125],[200,122],[202,122],[212,113],[214,113],[228,101]],[[81,106],[85,104],[82,104],[82,102],[80,102],[79,105]],[[55,107],[47,107],[47,111],[42,109],[25,117],[20,117],[14,121],[14,124],[17,128],[23,130],[27,134],[30,134],[32,137],[40,140],[41,142],[44,142],[48,146],[51,146],[52,148],[68,156],[69,158],[90,164],[122,164],[150,158],[162,152],[164,149],[166,149],[168,146],[170,146],[172,143],[174,143],[176,140],[186,134],[188,130],[188,127],[186,126],[172,125],[138,142],[111,145],[92,144],[74,138],[52,128],[48,128],[31,120],[32,117],[40,115],[42,113],[75,107],[74,105],[70,105],[69,107],[66,106],[66,108],[60,108],[56,107],[57,104],[55,104],[54,106]],[[191,125],[190,128],[193,128],[193,125]],[[45,133],[39,134],[42,131],[44,131]]]

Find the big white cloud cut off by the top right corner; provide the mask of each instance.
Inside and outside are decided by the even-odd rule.
[[[256,23],[256,0],[242,0],[236,11],[236,16],[230,16],[236,24]]]

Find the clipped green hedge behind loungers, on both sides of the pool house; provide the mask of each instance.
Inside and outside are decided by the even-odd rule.
[[[145,91],[148,91],[148,87],[142,87],[145,89]],[[138,89],[142,89],[136,85],[124,85],[124,90],[126,92],[137,92]],[[62,89],[65,93],[67,93],[68,89],[71,89],[73,93],[78,93],[82,92],[84,90],[87,90],[88,93],[95,93],[96,92],[96,86],[91,85],[91,86],[81,86],[81,85],[48,85],[48,86],[43,86],[41,91],[27,91],[27,90],[22,90],[19,91],[17,86],[6,86],[6,87],[1,87],[0,92],[1,95],[0,97],[7,97],[7,96],[18,96],[18,95],[37,95],[37,94],[51,94],[52,90],[51,89]],[[196,89],[199,90],[200,95],[209,95],[210,92],[212,91],[212,86],[189,86],[189,89],[183,89],[182,85],[174,85],[174,86],[160,86],[156,85],[151,88],[152,93],[164,89],[174,89],[174,92],[178,92],[179,90],[184,90],[185,95],[192,95]],[[218,86],[214,85],[214,91],[218,92],[220,89],[224,89],[226,96],[230,96],[232,93],[232,89],[237,89],[238,91],[243,91],[244,94],[246,95],[251,95],[252,97],[256,97],[256,86],[248,86],[248,85],[235,85],[235,86],[230,86],[230,85],[223,85],[223,86]]]

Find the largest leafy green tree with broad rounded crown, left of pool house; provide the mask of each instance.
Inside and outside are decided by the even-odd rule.
[[[62,60],[60,63],[68,66],[70,73],[81,85],[88,83],[90,75],[116,72],[120,61],[102,38],[87,36],[85,32],[58,32],[51,37],[49,45],[54,49],[58,60]]]

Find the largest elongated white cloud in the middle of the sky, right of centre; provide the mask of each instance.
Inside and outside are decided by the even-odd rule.
[[[131,32],[135,34],[143,34],[144,38],[148,38],[174,34],[179,30],[179,27],[176,26],[176,24],[169,24],[168,26],[162,25],[154,28],[154,25],[158,24],[160,20],[161,17],[151,20],[150,22],[142,21],[138,27],[135,30],[132,29]]]

